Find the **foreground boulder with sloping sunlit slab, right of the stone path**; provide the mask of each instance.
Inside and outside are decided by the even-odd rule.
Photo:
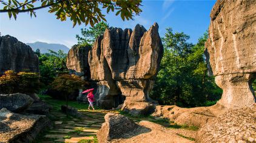
[[[193,142],[177,135],[177,131],[169,130],[149,121],[136,124],[123,115],[108,113],[106,122],[97,132],[101,142]]]

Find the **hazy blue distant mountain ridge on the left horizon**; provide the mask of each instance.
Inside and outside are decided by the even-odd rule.
[[[34,42],[34,43],[27,43],[33,51],[39,48],[41,53],[49,53],[48,49],[58,52],[58,50],[63,50],[64,53],[69,52],[69,48],[66,45],[62,44],[49,44],[46,42]]]

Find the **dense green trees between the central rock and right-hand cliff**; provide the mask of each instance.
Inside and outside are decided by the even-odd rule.
[[[220,88],[214,78],[206,75],[204,42],[207,34],[193,45],[183,32],[167,28],[164,35],[164,56],[151,97],[160,104],[195,107],[220,98]]]

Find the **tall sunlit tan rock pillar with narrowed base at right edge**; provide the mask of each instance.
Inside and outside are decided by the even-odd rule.
[[[212,8],[206,58],[223,89],[218,104],[241,108],[255,103],[256,1],[220,1]]]

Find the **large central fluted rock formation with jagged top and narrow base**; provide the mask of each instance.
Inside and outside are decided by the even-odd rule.
[[[125,96],[123,110],[133,115],[148,113],[154,103],[149,92],[162,56],[156,23],[148,31],[142,25],[133,31],[107,29],[89,52],[91,78],[98,81],[97,104],[117,107]]]

